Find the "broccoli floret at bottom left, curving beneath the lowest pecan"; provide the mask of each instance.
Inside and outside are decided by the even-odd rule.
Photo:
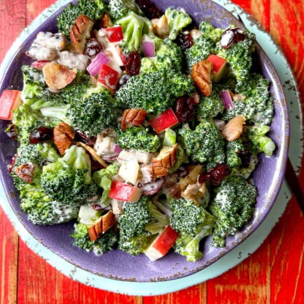
[[[88,226],[81,223],[74,225],[74,231],[70,237],[74,238],[74,246],[93,251],[97,255],[112,250],[117,243],[117,235],[112,229],[106,231],[100,238],[92,242],[89,237]]]

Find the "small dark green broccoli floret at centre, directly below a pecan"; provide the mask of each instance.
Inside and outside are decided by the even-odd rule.
[[[154,153],[161,145],[157,135],[149,134],[144,127],[131,127],[117,131],[117,143],[122,149],[135,149]]]

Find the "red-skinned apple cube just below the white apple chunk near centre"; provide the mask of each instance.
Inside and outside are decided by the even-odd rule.
[[[111,183],[109,197],[114,200],[136,203],[141,196],[141,191],[135,186],[114,180]]]

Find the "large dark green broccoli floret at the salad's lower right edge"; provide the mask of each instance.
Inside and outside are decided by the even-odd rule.
[[[225,178],[214,192],[210,211],[216,223],[211,245],[223,247],[225,238],[234,235],[251,218],[257,192],[242,176],[235,175]]]

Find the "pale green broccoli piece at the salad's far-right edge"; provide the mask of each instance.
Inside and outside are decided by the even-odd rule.
[[[269,131],[269,126],[258,124],[246,128],[246,135],[253,143],[253,151],[256,153],[263,152],[268,157],[273,155],[273,152],[276,148],[273,140],[270,137],[265,136],[265,134],[267,134]]]

